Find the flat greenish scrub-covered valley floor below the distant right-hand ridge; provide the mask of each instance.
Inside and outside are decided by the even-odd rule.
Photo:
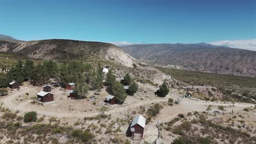
[[[202,73],[199,71],[179,70],[161,67],[157,68],[163,71],[165,74],[173,76],[174,79],[188,83],[189,85],[193,86],[191,87],[191,89],[196,89],[196,86],[213,86],[217,88],[217,91],[220,91],[224,94],[223,100],[236,100],[246,103],[255,103],[255,77]],[[209,88],[208,90],[210,91],[211,88]],[[211,96],[211,94],[209,96]]]

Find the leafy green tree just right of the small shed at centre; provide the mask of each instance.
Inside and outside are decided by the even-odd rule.
[[[115,95],[115,97],[117,97],[118,103],[123,104],[127,97],[124,86],[119,81],[115,81],[111,91],[112,94]]]

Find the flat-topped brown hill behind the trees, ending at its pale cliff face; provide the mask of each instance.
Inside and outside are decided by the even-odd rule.
[[[0,52],[54,61],[63,61],[66,58],[82,58],[112,61],[126,67],[137,65],[137,60],[127,55],[119,47],[91,41],[63,39],[22,42],[0,41]]]

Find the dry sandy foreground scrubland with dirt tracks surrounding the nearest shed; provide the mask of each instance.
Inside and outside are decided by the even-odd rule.
[[[53,89],[55,103],[42,106],[33,103],[39,89],[42,87],[25,82],[18,93],[0,97],[3,103],[0,114],[1,143],[152,143],[158,137],[158,122],[161,125],[162,143],[173,140],[185,143],[255,141],[256,129],[252,120],[255,118],[255,109],[249,104],[210,104],[184,98],[180,104],[170,106],[168,98],[177,99],[181,89],[171,89],[166,98],[156,98],[154,91],[157,87],[139,83],[139,91],[127,97],[124,105],[104,105],[102,100],[107,94],[104,89],[96,99],[90,98],[94,92],[89,92],[87,99],[67,100],[67,93],[57,87]],[[29,95],[25,96],[26,93]],[[212,110],[202,113],[207,105],[213,105]],[[225,115],[213,113],[218,110],[218,105],[225,106]],[[108,108],[100,115],[102,106]],[[245,109],[247,107],[248,110]],[[233,115],[230,114],[232,110]],[[24,122],[23,117],[27,111],[37,111],[36,122]],[[147,125],[144,139],[134,141],[126,137],[125,133],[132,118],[138,114],[147,117]],[[214,121],[216,117],[221,121]],[[234,139],[237,136],[239,139]]]

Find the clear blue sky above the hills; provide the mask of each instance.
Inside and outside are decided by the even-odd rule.
[[[253,0],[0,0],[0,33],[21,40],[210,43],[256,39]]]

